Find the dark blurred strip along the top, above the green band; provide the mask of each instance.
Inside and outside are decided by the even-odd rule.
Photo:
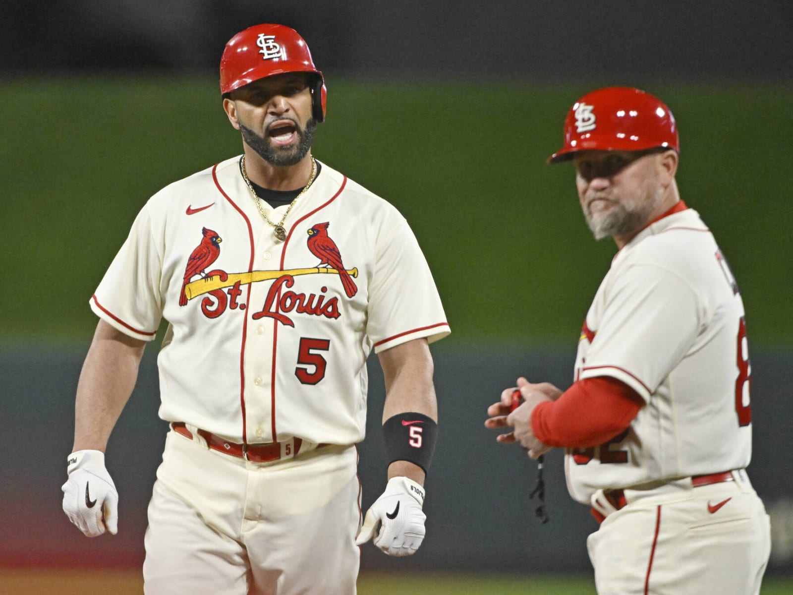
[[[298,29],[333,76],[789,82],[793,5],[764,2],[83,0],[0,8],[2,70],[214,74],[255,22]]]

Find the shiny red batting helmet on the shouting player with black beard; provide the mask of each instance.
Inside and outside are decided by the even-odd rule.
[[[314,66],[305,40],[285,25],[254,25],[228,40],[220,57],[220,93],[286,72],[316,75],[311,84],[313,116],[323,121],[328,97],[324,78]]]

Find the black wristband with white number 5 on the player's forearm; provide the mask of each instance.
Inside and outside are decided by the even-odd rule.
[[[383,437],[389,465],[409,461],[427,473],[438,440],[438,424],[431,417],[416,412],[397,413],[385,420]]]

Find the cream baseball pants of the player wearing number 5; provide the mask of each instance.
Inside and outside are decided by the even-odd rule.
[[[251,463],[168,432],[144,543],[146,595],[351,595],[358,452]]]

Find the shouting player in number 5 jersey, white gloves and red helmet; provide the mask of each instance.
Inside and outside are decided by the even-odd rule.
[[[243,155],[140,211],[90,306],[63,510],[117,532],[109,434],[147,341],[170,422],[148,507],[146,593],[355,592],[359,545],[410,555],[424,536],[437,430],[428,344],[441,301],[404,217],[312,156],[327,90],[282,25],[232,37],[223,107]],[[385,492],[362,524],[355,444],[366,358],[385,376]]]

